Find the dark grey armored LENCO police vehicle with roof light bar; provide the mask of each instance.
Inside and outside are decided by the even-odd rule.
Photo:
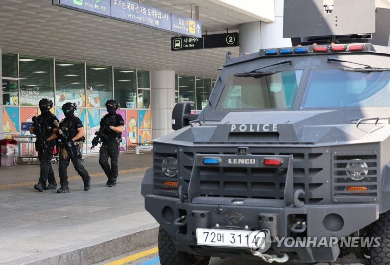
[[[390,264],[389,36],[365,34],[390,14],[373,2],[285,1],[301,45],[227,54],[204,110],[175,106],[142,183],[161,265]]]

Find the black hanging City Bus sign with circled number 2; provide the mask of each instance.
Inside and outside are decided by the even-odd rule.
[[[237,32],[202,35],[201,38],[171,38],[171,51],[231,47],[238,45]]]

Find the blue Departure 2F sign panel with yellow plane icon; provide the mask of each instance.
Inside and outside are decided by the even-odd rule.
[[[202,24],[199,20],[171,14],[171,30],[184,35],[202,37]]]

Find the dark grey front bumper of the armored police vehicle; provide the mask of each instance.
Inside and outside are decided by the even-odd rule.
[[[272,237],[341,238],[369,225],[379,218],[378,204],[304,205],[286,207],[283,200],[237,199],[227,197],[197,197],[191,203],[178,198],[145,196],[146,210],[167,231],[178,250],[192,254],[244,257],[258,259],[249,249],[208,247],[196,244],[196,228],[231,227],[250,230],[269,229]],[[185,218],[183,218],[185,216]],[[292,233],[295,217],[303,218],[306,231]],[[264,220],[265,218],[271,219]],[[180,220],[180,222],[175,222]],[[272,221],[270,221],[272,220]],[[286,252],[289,261],[329,262],[339,254],[332,247],[279,247],[272,244],[270,252]],[[268,253],[268,252],[267,252]]]

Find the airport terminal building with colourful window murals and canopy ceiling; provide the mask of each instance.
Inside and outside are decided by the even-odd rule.
[[[282,37],[283,0],[239,2],[1,0],[0,138],[29,135],[42,98],[53,100],[59,119],[61,106],[75,102],[86,129],[84,153],[96,153],[91,141],[105,102],[115,99],[125,120],[121,150],[150,146],[171,131],[175,103],[190,101],[195,113],[207,105],[227,51],[234,57],[291,46]],[[127,9],[127,18],[145,10],[144,19],[155,25],[110,17],[104,14],[110,6]],[[377,6],[390,8],[390,1],[377,0]],[[183,29],[200,23],[198,37],[165,27],[167,14]],[[205,47],[207,35],[215,35],[216,47]],[[236,39],[229,43],[228,35]]]

